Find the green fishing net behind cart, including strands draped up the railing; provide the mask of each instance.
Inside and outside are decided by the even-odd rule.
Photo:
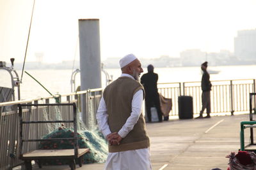
[[[58,107],[54,108],[54,115],[56,120],[62,120],[60,110]],[[92,112],[91,112],[92,113]],[[102,133],[97,129],[97,126],[91,124],[91,130],[89,131],[84,125],[83,121],[79,118],[79,110],[77,110],[77,145],[78,148],[89,148],[89,152],[83,155],[83,164],[90,163],[104,163],[108,156],[108,143]],[[49,116],[49,115],[48,115]],[[47,112],[44,111],[44,117],[47,118]],[[57,127],[58,125],[59,127]],[[54,126],[48,126],[49,134],[45,135],[43,139],[54,138],[74,138],[73,127],[65,127],[64,124],[55,124]],[[62,150],[62,149],[74,149],[74,140],[56,140],[56,141],[41,141],[39,149],[42,150]],[[77,162],[77,160],[76,160]],[[68,160],[57,159],[47,160],[41,162],[46,165],[61,165],[68,164]]]

